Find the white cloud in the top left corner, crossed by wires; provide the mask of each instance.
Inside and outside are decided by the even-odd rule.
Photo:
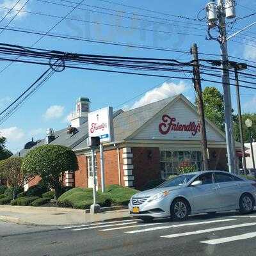
[[[24,6],[24,4],[26,3],[26,0],[21,0],[19,1],[19,3],[17,3],[17,0],[4,0],[3,3],[0,4],[1,8],[6,8],[6,9],[1,9],[0,10],[0,15],[4,16],[6,15],[10,10],[8,9],[12,9],[13,10],[20,10],[22,8],[22,6]],[[15,5],[16,4],[16,5]],[[15,6],[15,7],[13,7]],[[22,11],[27,11],[28,10],[28,4],[26,4],[23,8]],[[8,13],[8,15],[6,16],[5,20],[10,20],[12,19],[17,12],[12,11],[10,13]],[[22,18],[25,17],[27,15],[26,12],[19,12],[18,15],[16,16],[16,18]]]

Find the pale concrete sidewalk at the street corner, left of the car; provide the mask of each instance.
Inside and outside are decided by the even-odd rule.
[[[0,220],[24,225],[79,225],[96,221],[129,218],[128,209],[100,212],[98,214],[85,213],[84,210],[57,207],[29,207],[29,206],[0,206]]]

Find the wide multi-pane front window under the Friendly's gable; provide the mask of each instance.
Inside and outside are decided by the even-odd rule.
[[[202,153],[200,151],[161,151],[162,179],[177,173],[184,163],[195,166],[196,170],[202,170]]]

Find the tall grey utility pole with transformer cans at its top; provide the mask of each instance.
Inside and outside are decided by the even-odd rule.
[[[232,127],[232,103],[230,93],[230,78],[228,71],[228,47],[227,47],[227,31],[226,31],[226,17],[232,19],[236,17],[232,0],[218,0],[218,6],[215,1],[207,4],[207,17],[209,22],[208,35],[210,40],[214,39],[220,43],[221,49],[221,66],[223,70],[223,99],[225,110],[225,133],[227,141],[227,156],[228,156],[228,170],[229,172],[236,172],[236,150]],[[218,25],[216,22],[218,21]],[[220,38],[213,38],[210,33],[210,24],[218,26],[220,31]]]

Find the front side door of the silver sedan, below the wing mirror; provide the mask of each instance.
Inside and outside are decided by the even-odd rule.
[[[192,211],[207,212],[218,208],[217,187],[213,183],[212,172],[201,174],[195,180],[201,180],[202,185],[190,186]]]

